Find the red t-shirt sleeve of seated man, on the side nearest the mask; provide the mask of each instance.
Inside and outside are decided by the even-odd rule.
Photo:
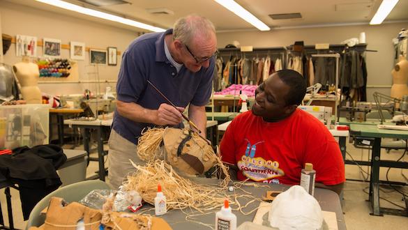
[[[236,143],[234,140],[234,130],[235,130],[235,120],[233,120],[229,125],[227,130],[225,130],[222,136],[220,144],[221,160],[222,162],[227,162],[229,164],[236,164],[235,158],[235,148]]]

